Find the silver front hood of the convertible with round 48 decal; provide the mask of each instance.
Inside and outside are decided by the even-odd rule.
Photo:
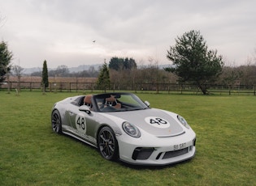
[[[127,120],[139,129],[157,137],[177,136],[184,133],[183,127],[175,118],[177,116],[175,113],[156,108],[126,112],[108,112],[107,115]],[[113,120],[115,120],[115,117]]]

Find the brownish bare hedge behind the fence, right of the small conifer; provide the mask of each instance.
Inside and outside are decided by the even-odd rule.
[[[138,87],[134,86],[145,83],[176,83],[180,85],[192,83],[197,85],[197,83],[193,82],[180,81],[180,78],[175,73],[160,68],[157,61],[147,66],[137,66],[137,68],[125,70],[111,69],[106,63],[102,66],[102,71],[108,71],[106,76],[102,75],[102,78],[98,78],[98,86],[102,89],[107,89],[110,83],[115,84],[115,89],[120,89],[125,85],[133,90],[138,89]],[[109,78],[106,78],[108,77],[107,74],[109,74]],[[202,86],[205,86],[206,89],[210,85],[225,85],[231,88],[238,85],[251,87],[256,84],[256,65],[248,63],[243,66],[223,66],[221,74],[219,74],[218,78],[215,78],[215,81],[203,80]]]

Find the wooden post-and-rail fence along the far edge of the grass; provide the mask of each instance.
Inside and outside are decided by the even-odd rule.
[[[228,95],[256,95],[255,85],[205,85],[207,91],[212,94]],[[41,82],[2,82],[0,88],[10,91],[15,89],[22,91],[42,90]],[[50,82],[46,91],[97,91],[96,82]],[[111,84],[108,91],[134,91],[155,93],[178,94],[202,94],[196,85],[176,83],[128,83]]]

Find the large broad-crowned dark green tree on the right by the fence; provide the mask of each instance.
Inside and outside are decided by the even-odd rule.
[[[172,67],[165,70],[176,74],[180,82],[192,82],[207,92],[207,83],[215,82],[224,62],[217,50],[209,50],[199,31],[190,31],[176,39],[176,44],[167,51]]]

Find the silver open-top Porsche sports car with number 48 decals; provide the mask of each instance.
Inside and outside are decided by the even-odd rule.
[[[78,95],[54,104],[52,129],[98,148],[104,159],[167,165],[192,159],[196,134],[173,112],[130,93]]]

